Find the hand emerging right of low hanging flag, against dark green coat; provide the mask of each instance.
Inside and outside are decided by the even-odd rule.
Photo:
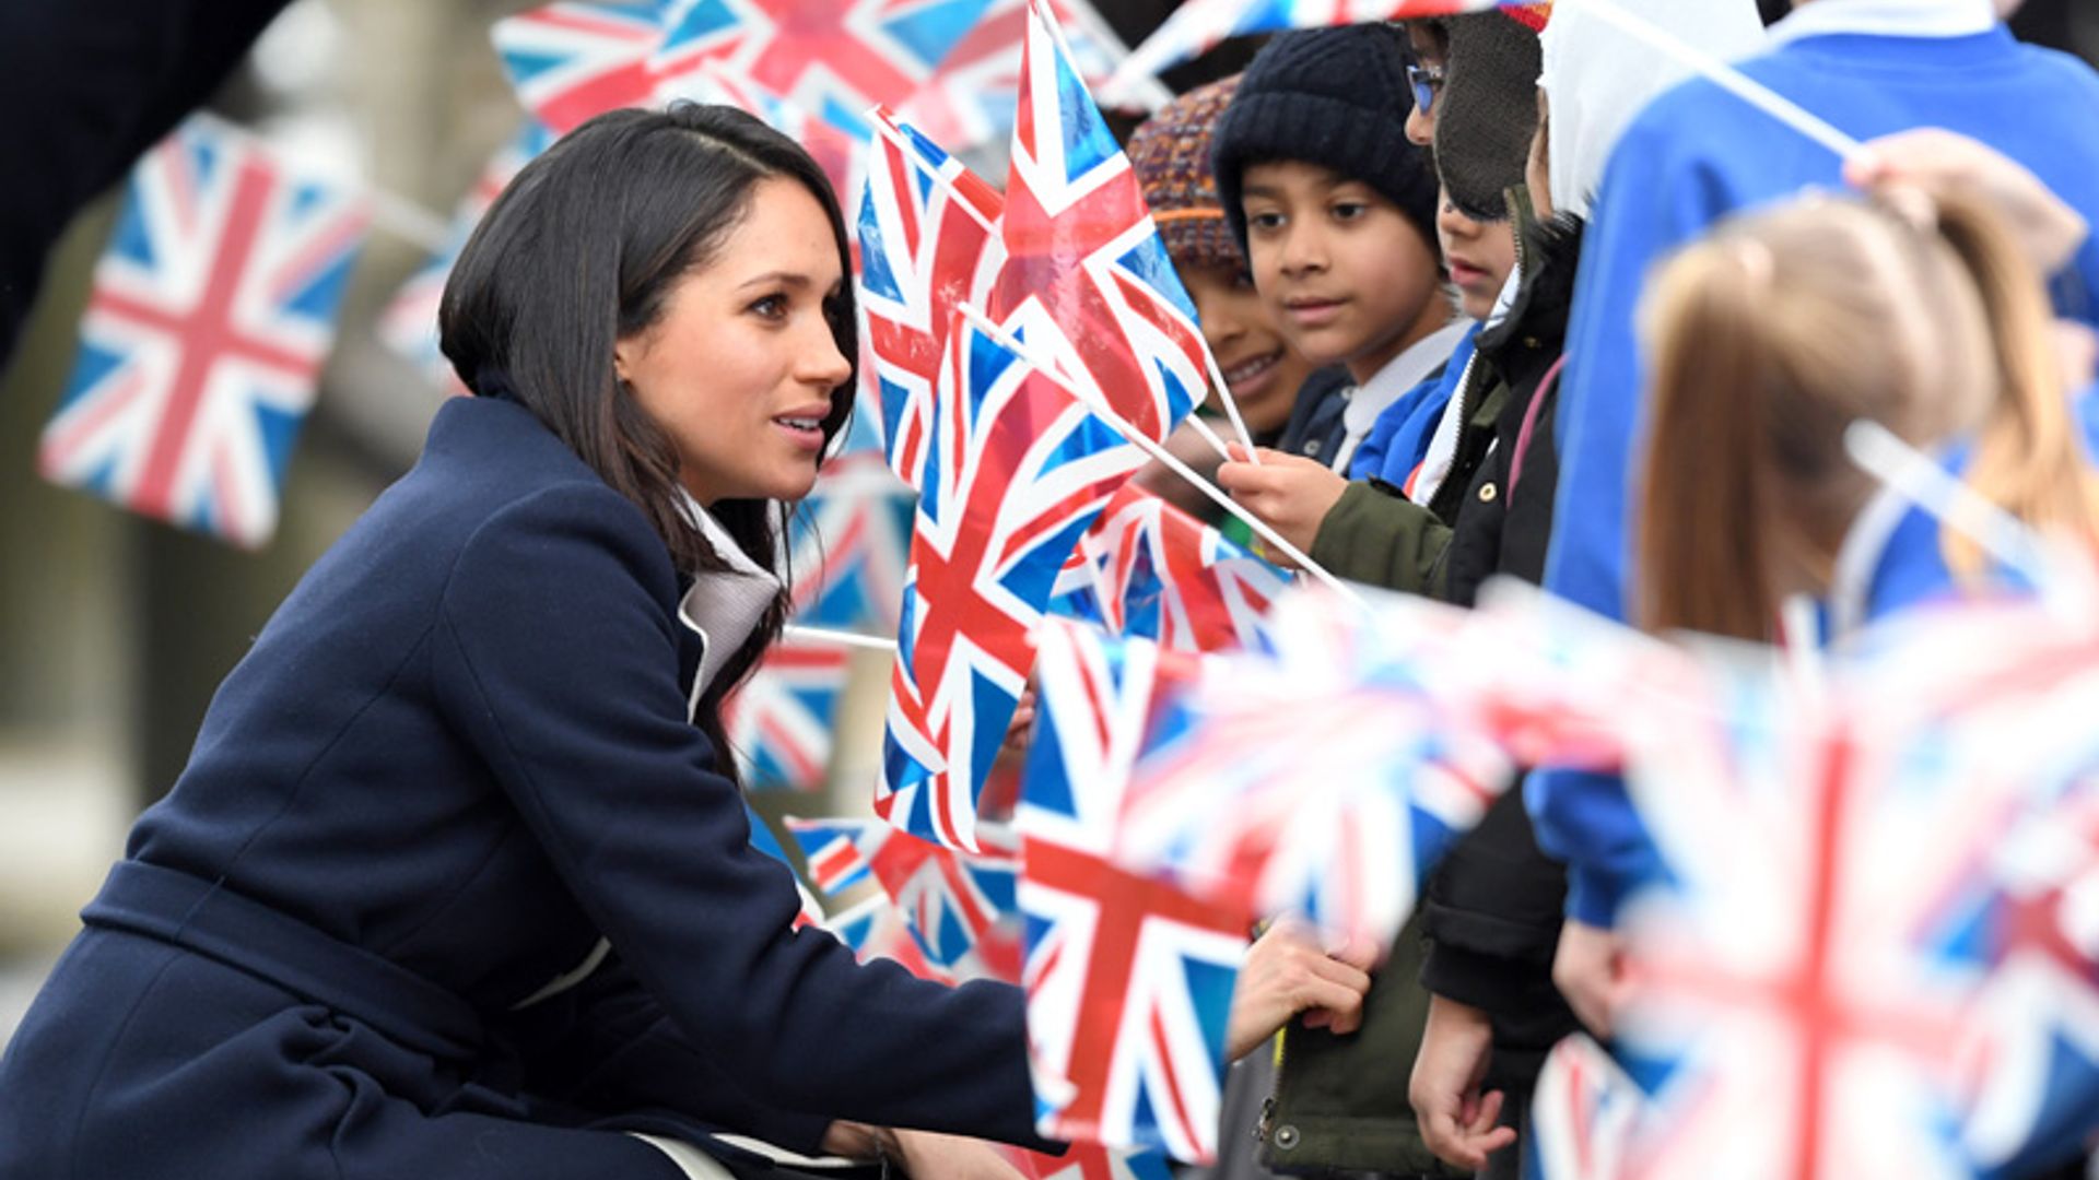
[[[1303,922],[1280,920],[1253,941],[1238,966],[1224,1052],[1238,1060],[1303,1012],[1306,1025],[1354,1033],[1362,1025],[1362,993],[1371,989],[1373,947],[1327,951]]]

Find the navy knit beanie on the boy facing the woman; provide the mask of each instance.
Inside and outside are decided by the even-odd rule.
[[[1411,113],[1415,92],[1394,25],[1297,29],[1261,46],[1217,120],[1209,162],[1241,250],[1247,168],[1274,160],[1303,160],[1371,185],[1436,250],[1436,170],[1406,141]]]

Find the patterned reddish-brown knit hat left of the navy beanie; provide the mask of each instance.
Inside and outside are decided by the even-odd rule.
[[[1152,206],[1159,237],[1175,267],[1247,265],[1217,202],[1209,172],[1209,141],[1238,90],[1238,73],[1173,99],[1129,136],[1129,166]]]

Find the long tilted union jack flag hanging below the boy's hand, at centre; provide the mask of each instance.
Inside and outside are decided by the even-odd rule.
[[[974,325],[949,334],[875,813],[976,850],[976,804],[1058,569],[1142,451]]]

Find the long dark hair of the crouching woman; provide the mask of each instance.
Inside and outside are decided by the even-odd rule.
[[[728,563],[686,512],[676,449],[613,372],[613,346],[661,319],[678,279],[714,258],[772,176],[817,197],[850,275],[846,218],[808,151],[733,107],[676,103],[602,113],[527,164],[468,237],[439,307],[439,340],[460,380],[539,418],[649,517],[686,575]],[[825,315],[838,351],[858,357],[852,283]],[[825,443],[846,426],[852,391],[850,376],[831,391]],[[720,500],[709,512],[751,561],[779,567],[787,506]],[[699,701],[699,726],[728,777],[737,771],[720,701],[779,638],[787,605],[781,590]]]

